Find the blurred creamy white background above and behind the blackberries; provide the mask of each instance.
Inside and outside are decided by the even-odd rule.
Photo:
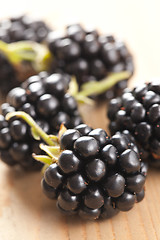
[[[29,14],[54,29],[81,22],[123,39],[134,54],[134,82],[160,76],[160,2],[158,0],[6,0],[0,18]]]

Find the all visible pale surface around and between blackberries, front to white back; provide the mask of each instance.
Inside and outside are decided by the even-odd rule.
[[[94,3],[95,2],[95,3]],[[73,20],[124,39],[135,57],[130,86],[160,77],[159,0],[6,0],[1,16],[30,13],[55,28]],[[105,106],[81,108],[86,123],[106,129]],[[41,192],[39,173],[25,173],[0,162],[0,240],[156,240],[160,239],[160,170],[150,170],[146,197],[111,220],[86,222],[64,217]]]

